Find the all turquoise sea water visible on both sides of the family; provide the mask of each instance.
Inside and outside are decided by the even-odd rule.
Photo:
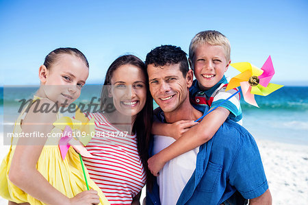
[[[29,99],[38,87],[0,87],[0,131],[3,122],[12,121],[3,112],[18,110],[20,99]],[[90,103],[91,97],[99,97],[101,85],[85,86],[76,104]],[[243,126],[256,138],[308,145],[308,86],[285,86],[263,97],[255,95],[259,108],[241,99]],[[94,101],[95,102],[95,101]],[[157,104],[155,104],[157,107]]]

